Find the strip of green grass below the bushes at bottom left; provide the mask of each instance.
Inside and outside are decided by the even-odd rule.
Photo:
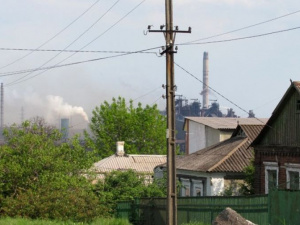
[[[99,218],[92,223],[71,222],[71,221],[51,221],[51,220],[30,220],[23,218],[1,218],[0,225],[131,225],[123,219],[103,219]]]

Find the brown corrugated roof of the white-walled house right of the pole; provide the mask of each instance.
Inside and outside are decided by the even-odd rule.
[[[243,172],[253,158],[249,149],[252,140],[258,135],[263,125],[239,125],[237,130],[243,130],[248,137],[236,136],[201,149],[190,155],[178,158],[176,169],[198,172]]]

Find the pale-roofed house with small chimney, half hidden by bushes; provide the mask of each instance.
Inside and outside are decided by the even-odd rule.
[[[131,169],[146,175],[146,178],[151,181],[154,168],[166,163],[166,161],[166,155],[126,154],[124,142],[120,141],[117,142],[116,153],[94,163],[93,168],[97,174],[97,179],[104,179],[105,174],[114,170],[126,171]]]

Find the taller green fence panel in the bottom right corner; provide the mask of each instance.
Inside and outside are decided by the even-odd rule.
[[[272,190],[269,205],[270,224],[300,224],[300,191]]]

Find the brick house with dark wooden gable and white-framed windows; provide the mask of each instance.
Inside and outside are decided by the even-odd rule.
[[[300,189],[300,82],[291,82],[264,129],[255,150],[257,194],[271,188]]]

